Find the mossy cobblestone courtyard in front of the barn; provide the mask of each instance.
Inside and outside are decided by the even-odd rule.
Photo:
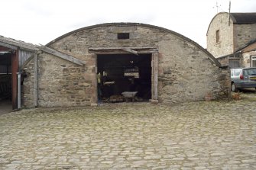
[[[0,169],[256,169],[249,99],[22,110],[0,129]]]

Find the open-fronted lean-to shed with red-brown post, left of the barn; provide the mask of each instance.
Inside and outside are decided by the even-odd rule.
[[[38,46],[0,36],[0,102],[11,101],[13,109],[21,107],[21,68]]]

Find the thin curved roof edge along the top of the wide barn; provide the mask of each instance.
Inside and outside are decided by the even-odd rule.
[[[89,26],[89,27],[82,27],[82,28],[79,28],[77,30],[73,30],[73,31],[71,31],[71,32],[69,32],[67,34],[63,34],[62,36],[57,37],[57,39],[50,41],[50,43],[47,43],[46,46],[49,47],[51,44],[55,43],[56,41],[61,40],[61,39],[65,38],[65,37],[68,37],[71,34],[76,34],[76,33],[78,33],[79,31],[82,31],[82,30],[89,30],[89,29],[93,29],[93,28],[97,28],[97,27],[112,27],[112,26],[116,26],[116,27],[118,27],[118,26],[119,27],[125,27],[125,26],[129,26],[129,27],[148,27],[148,28],[152,28],[152,29],[156,29],[156,30],[160,30],[160,31],[164,31],[164,32],[173,34],[173,35],[175,35],[177,37],[180,37],[183,40],[186,40],[186,41],[192,43],[196,47],[198,47],[200,50],[202,50],[204,53],[206,53],[209,56],[209,58],[215,63],[216,66],[221,67],[221,64],[219,63],[219,61],[217,59],[215,59],[215,57],[212,56],[211,53],[209,53],[206,49],[201,47],[195,41],[190,40],[190,38],[184,37],[183,35],[178,34],[177,32],[175,32],[173,30],[168,30],[168,29],[166,29],[164,27],[157,27],[157,26],[150,25],[150,24],[141,24],[141,23],[105,23],[105,24],[96,24],[96,25],[92,25],[92,26]]]

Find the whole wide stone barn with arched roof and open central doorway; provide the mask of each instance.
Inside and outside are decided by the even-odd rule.
[[[24,107],[122,101],[179,103],[229,98],[228,68],[172,30],[148,24],[98,24],[41,46],[24,67]],[[36,94],[36,95],[35,95]]]

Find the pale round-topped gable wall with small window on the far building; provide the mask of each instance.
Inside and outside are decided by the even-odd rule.
[[[219,42],[216,42],[216,30],[219,30]],[[228,26],[228,14],[215,15],[207,31],[207,50],[216,58],[233,53],[233,23]]]

